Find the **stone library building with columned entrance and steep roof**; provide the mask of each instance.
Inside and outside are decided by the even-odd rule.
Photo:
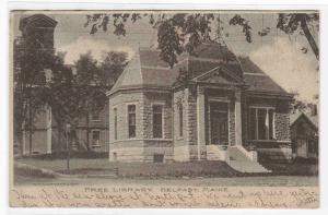
[[[109,159],[258,160],[291,158],[293,98],[247,57],[218,43],[184,53],[174,68],[139,49],[109,98]]]

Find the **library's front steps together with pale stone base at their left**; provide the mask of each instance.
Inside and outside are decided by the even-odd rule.
[[[257,162],[257,158],[251,158],[249,152],[243,146],[229,146],[225,151],[218,145],[210,145],[208,150],[208,159],[224,160],[226,164],[239,172],[260,174],[271,172]]]

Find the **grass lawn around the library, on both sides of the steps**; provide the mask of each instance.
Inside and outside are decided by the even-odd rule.
[[[118,175],[119,177],[235,177],[235,176],[268,176],[268,174],[241,174],[224,162],[187,162],[187,163],[109,163],[107,158],[71,158],[70,171],[67,171],[66,159],[16,159],[36,168],[49,169],[59,174],[72,175]],[[293,162],[291,164],[262,164],[272,170],[271,176],[317,176],[317,164]]]

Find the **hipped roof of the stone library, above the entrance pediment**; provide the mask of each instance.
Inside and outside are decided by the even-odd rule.
[[[225,46],[213,43],[200,45],[195,50],[194,56],[189,53],[180,55],[178,63],[173,69],[160,58],[159,50],[139,49],[109,94],[118,89],[133,87],[171,88],[177,81],[179,69],[181,68],[187,70],[189,79],[199,77],[220,68],[220,70],[229,73],[230,76],[243,80],[249,92],[290,95],[249,58],[237,58]]]

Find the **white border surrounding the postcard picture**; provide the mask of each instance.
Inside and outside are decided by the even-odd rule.
[[[320,10],[320,110],[328,109],[328,55],[327,49],[324,47],[328,47],[327,38],[328,38],[328,1],[325,0],[249,0],[247,4],[245,3],[246,0],[221,0],[220,4],[218,0],[202,0],[199,3],[199,0],[156,0],[156,3],[148,1],[132,1],[132,0],[120,0],[120,3],[117,1],[105,1],[98,0],[97,3],[91,0],[80,0],[79,3],[73,0],[59,0],[57,2],[45,1],[45,0],[34,0],[26,2],[23,0],[15,0],[8,3],[7,0],[0,1],[0,55],[1,55],[1,72],[0,72],[0,85],[1,88],[1,103],[0,106],[0,118],[1,120],[1,142],[0,144],[0,169],[2,171],[1,176],[1,192],[0,192],[0,200],[1,200],[1,214],[174,214],[174,213],[184,213],[184,214],[198,214],[198,213],[208,213],[208,214],[218,214],[219,211],[216,210],[85,210],[85,208],[47,208],[47,210],[24,210],[24,208],[9,208],[8,206],[8,143],[9,143],[9,10],[14,9],[22,9],[22,10],[109,10],[109,9],[119,9],[119,10],[128,10],[128,9],[162,9],[162,10]],[[46,2],[46,3],[45,3]],[[167,4],[169,3],[169,4]],[[5,100],[5,103],[3,103]],[[4,105],[5,104],[5,105]],[[328,151],[328,145],[325,144],[328,142],[328,133],[326,134],[325,126],[328,123],[328,112],[320,111],[320,189],[321,189],[321,202],[320,202],[320,210],[220,210],[220,213],[224,214],[244,214],[244,213],[251,213],[253,215],[256,214],[272,214],[272,213],[281,213],[281,214],[290,214],[291,212],[297,212],[300,214],[327,214],[325,211],[328,208],[328,201],[327,201],[327,164],[328,164],[328,156],[325,156],[325,152]],[[5,136],[3,139],[3,136]],[[324,164],[326,164],[324,166]],[[5,177],[7,176],[7,177]]]

